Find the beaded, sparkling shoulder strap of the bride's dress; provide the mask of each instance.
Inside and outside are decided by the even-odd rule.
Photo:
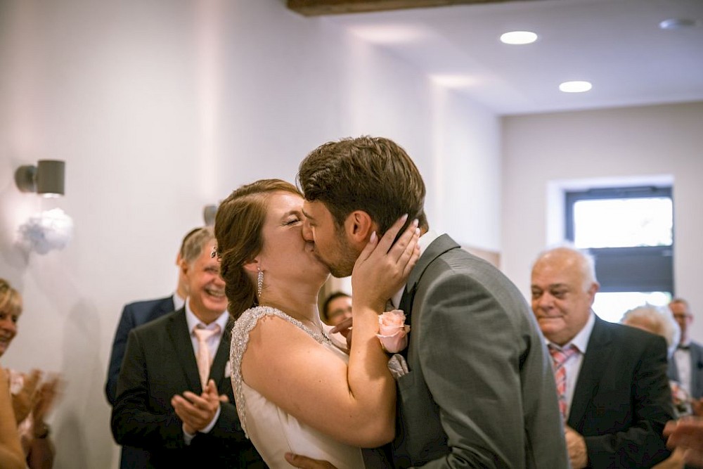
[[[242,425],[242,430],[248,438],[247,428],[246,428],[246,409],[244,402],[244,392],[242,390],[242,357],[247,349],[247,344],[249,343],[249,333],[256,327],[259,319],[264,316],[278,316],[280,319],[284,319],[294,326],[304,330],[307,335],[314,338],[318,343],[327,343],[333,345],[330,338],[325,335],[325,333],[319,333],[311,328],[305,326],[302,322],[295,318],[288,316],[280,309],[276,309],[270,306],[257,306],[247,309],[243,314],[237,319],[232,328],[232,342],[230,347],[230,361],[232,366],[232,387],[234,390],[234,396],[236,397],[236,407],[237,413],[239,415],[239,421]]]

